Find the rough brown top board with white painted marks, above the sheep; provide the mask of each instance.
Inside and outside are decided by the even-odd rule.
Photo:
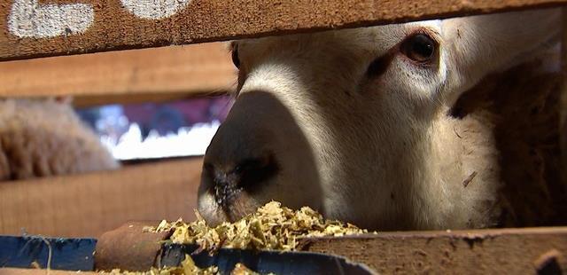
[[[2,0],[0,60],[203,43],[565,3],[567,0]]]

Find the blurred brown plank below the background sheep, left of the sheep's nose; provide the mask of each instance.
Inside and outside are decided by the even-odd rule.
[[[0,183],[0,235],[99,237],[130,220],[195,218],[202,158]]]

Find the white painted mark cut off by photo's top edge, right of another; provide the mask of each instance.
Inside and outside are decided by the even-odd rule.
[[[128,12],[148,20],[160,20],[182,10],[190,0],[120,0]]]

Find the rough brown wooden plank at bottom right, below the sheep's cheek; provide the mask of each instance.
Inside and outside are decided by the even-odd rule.
[[[567,227],[383,232],[302,240],[303,250],[343,255],[380,274],[560,274]]]

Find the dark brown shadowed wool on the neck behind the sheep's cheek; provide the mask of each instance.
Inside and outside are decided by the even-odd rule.
[[[567,223],[567,190],[559,159],[562,74],[545,66],[538,59],[490,75],[459,98],[453,109],[458,117],[490,114],[500,153],[494,165],[501,168],[504,183],[501,226]]]

